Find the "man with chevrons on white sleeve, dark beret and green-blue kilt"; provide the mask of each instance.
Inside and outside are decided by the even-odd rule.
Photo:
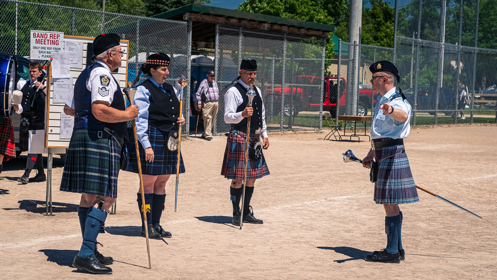
[[[117,34],[101,34],[93,40],[93,61],[81,72],[73,100],[64,107],[75,118],[60,190],[81,193],[78,216],[83,244],[73,266],[93,274],[112,274],[106,265],[114,260],[96,250],[96,238],[117,197],[121,147],[128,138],[126,121],[138,116],[137,105],[125,108],[111,74],[121,66],[119,42]]]

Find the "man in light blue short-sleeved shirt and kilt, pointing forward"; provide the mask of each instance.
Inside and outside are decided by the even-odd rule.
[[[411,105],[394,80],[400,81],[399,71],[389,61],[371,64],[371,84],[381,94],[376,103],[371,123],[371,149],[362,160],[365,168],[373,168],[374,200],[385,209],[385,233],[387,247],[366,256],[369,262],[399,263],[405,259],[402,248],[401,227],[403,215],[399,204],[419,201],[413,175],[409,166],[404,140],[411,125]],[[376,163],[373,161],[376,159]]]

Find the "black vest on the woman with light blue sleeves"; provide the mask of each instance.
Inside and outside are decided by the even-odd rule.
[[[162,84],[169,92],[170,96],[168,96],[150,80],[146,80],[140,86],[145,87],[150,93],[149,124],[160,131],[169,132],[179,118],[179,100],[174,93],[174,88],[169,84]]]

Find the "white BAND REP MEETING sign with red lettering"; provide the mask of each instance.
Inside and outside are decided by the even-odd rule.
[[[52,52],[64,50],[64,32],[31,30],[30,58],[50,59]]]

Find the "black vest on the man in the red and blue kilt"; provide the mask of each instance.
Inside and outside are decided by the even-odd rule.
[[[236,83],[234,85],[235,88],[242,94],[242,98],[244,101],[240,106],[237,108],[237,112],[241,112],[245,110],[245,108],[248,105],[248,96],[247,96],[247,89],[244,88],[240,83]],[[259,127],[262,128],[262,98],[260,98],[260,94],[257,91],[257,88],[254,86],[253,90],[255,91],[255,96],[253,97],[252,100],[252,108],[253,108],[253,114],[250,117],[250,133],[254,133],[255,130],[257,130]],[[239,123],[234,123],[231,125],[233,129],[236,129],[238,131],[247,131],[247,121],[248,118],[244,118],[242,121]]]

